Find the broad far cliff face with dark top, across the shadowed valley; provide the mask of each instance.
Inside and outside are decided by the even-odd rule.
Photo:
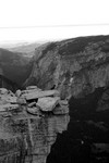
[[[56,88],[61,98],[81,98],[109,85],[109,36],[80,37],[46,43],[36,50],[25,82]]]

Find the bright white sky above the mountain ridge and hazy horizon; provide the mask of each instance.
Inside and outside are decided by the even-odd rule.
[[[0,43],[109,35],[109,0],[0,0]]]

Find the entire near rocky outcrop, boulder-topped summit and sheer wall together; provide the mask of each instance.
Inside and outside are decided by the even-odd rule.
[[[48,97],[48,93],[46,101],[39,102],[32,102],[22,97],[24,92],[29,95],[41,91],[36,88],[31,86],[26,90],[17,90],[15,95],[0,88],[0,163],[46,163],[58,133],[61,134],[68,128],[70,116],[65,113],[63,115],[62,109],[61,112],[59,110],[61,116],[55,115],[58,114],[58,109],[52,113],[53,103],[49,102],[51,97]],[[40,99],[43,98],[39,97]],[[56,97],[52,97],[53,99]],[[62,103],[66,104],[64,101]]]

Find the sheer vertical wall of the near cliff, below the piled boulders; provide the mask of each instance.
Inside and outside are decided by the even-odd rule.
[[[46,163],[57,134],[68,128],[69,121],[69,115],[0,115],[0,163]]]

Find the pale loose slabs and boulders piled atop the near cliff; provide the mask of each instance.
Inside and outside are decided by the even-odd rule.
[[[57,90],[43,91],[37,86],[29,86],[26,90],[16,90],[14,95],[11,90],[0,88],[0,112],[16,111],[22,106],[28,113],[41,116],[48,112],[58,114],[58,110],[60,114],[69,113],[68,101],[62,101]]]

